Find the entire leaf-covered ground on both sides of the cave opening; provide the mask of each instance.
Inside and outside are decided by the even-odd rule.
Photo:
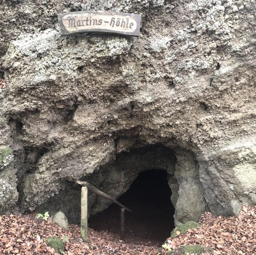
[[[177,237],[167,241],[169,248],[175,250],[182,245],[199,244],[213,249],[211,253],[205,254],[256,255],[256,207],[244,206],[237,217],[229,218],[216,217],[206,212],[200,224],[201,227],[189,229],[186,234],[177,231]],[[71,225],[70,229],[69,232],[60,228],[49,219],[36,219],[35,214],[2,215],[0,254],[59,254],[47,246],[47,237],[59,237],[65,241],[67,255],[167,254],[167,249],[159,251],[162,248],[160,243],[140,241],[138,238],[124,242],[119,240],[118,233],[97,232],[93,229],[89,229],[87,244],[82,241],[77,225]]]

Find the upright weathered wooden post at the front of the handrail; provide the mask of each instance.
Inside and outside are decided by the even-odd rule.
[[[84,242],[88,242],[87,235],[87,202],[88,202],[88,191],[87,187],[82,187],[81,189],[81,237]]]

